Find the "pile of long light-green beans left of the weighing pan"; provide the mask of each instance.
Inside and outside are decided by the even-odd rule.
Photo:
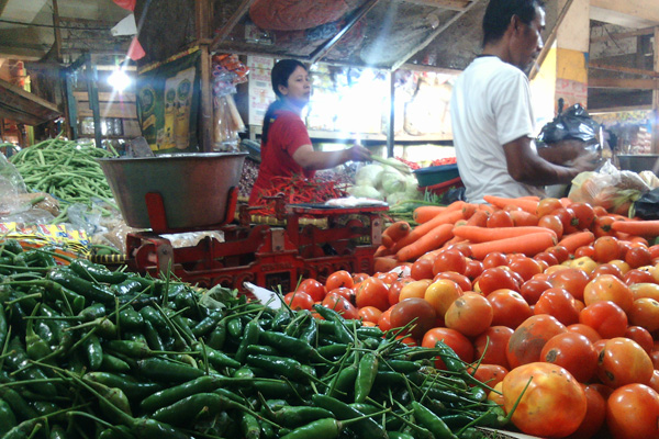
[[[91,206],[94,200],[100,200],[114,206],[105,175],[96,161],[96,158],[113,156],[116,154],[97,148],[92,143],[58,137],[23,148],[9,161],[29,189],[49,193],[63,203],[62,214],[53,221],[62,223],[67,219],[68,206],[75,203]]]

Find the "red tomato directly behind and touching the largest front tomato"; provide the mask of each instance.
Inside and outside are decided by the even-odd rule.
[[[587,383],[597,371],[597,352],[581,334],[568,330],[551,337],[540,351],[540,361],[565,368],[580,383]]]

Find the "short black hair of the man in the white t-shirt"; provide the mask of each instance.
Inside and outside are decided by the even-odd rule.
[[[530,24],[536,7],[544,5],[543,0],[490,0],[483,16],[483,46],[503,36],[513,15],[517,15],[522,23]]]

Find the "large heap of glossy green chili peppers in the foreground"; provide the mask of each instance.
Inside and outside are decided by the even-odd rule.
[[[0,438],[480,438],[455,353],[0,240]],[[432,365],[436,356],[449,371]]]

